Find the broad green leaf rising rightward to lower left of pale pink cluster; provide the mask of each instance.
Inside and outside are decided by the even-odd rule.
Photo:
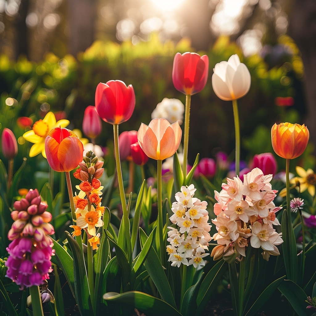
[[[215,292],[218,283],[226,272],[228,264],[222,259],[217,262],[214,267],[205,276],[197,294],[197,311],[196,315],[202,313],[206,304],[210,301],[211,296]]]

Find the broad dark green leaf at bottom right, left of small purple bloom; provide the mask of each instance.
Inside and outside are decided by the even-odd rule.
[[[287,298],[298,315],[309,315],[306,310],[305,302],[307,295],[296,283],[291,280],[284,280],[278,286],[278,289]]]

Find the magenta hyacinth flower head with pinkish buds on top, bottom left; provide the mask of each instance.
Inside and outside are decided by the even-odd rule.
[[[48,235],[54,234],[49,223],[51,213],[41,201],[37,189],[29,190],[25,198],[14,202],[11,217],[15,221],[8,233],[12,240],[7,248],[9,258],[7,276],[20,288],[39,286],[49,279],[52,272],[53,242]]]

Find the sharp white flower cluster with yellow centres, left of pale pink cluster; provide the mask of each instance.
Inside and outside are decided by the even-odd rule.
[[[210,236],[209,213],[206,210],[207,202],[194,196],[196,188],[191,184],[182,186],[181,192],[175,194],[176,202],[173,202],[171,210],[173,215],[170,221],[177,227],[168,227],[167,252],[170,255],[168,261],[172,266],[180,266],[181,263],[195,268],[204,266],[203,258],[209,253],[208,243]]]

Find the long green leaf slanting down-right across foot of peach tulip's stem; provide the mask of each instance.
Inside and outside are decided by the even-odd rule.
[[[143,229],[139,228],[139,236],[141,241],[141,246],[143,246],[147,240],[147,235],[143,231]],[[148,271],[151,279],[153,280],[161,298],[176,308],[176,303],[174,301],[174,297],[168,283],[167,276],[165,271],[160,263],[160,259],[158,258],[157,253],[153,247],[150,248],[147,258],[144,262],[145,268]]]

